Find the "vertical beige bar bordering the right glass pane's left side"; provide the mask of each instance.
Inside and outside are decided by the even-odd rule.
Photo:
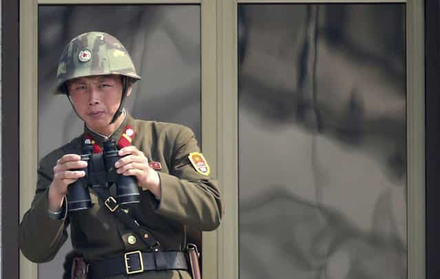
[[[218,178],[226,214],[218,230],[218,279],[238,279],[238,43],[237,3],[217,2],[218,14]]]

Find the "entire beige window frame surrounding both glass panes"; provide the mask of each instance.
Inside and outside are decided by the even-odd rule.
[[[3,0],[7,1],[7,0]],[[14,2],[14,0],[12,0]],[[37,167],[38,6],[45,4],[200,4],[203,152],[220,180],[226,214],[219,229],[202,234],[203,276],[238,273],[238,45],[242,3],[406,3],[408,278],[425,278],[425,68],[424,10],[418,0],[20,0],[19,2],[19,220],[34,196]],[[3,3],[3,6],[4,3]],[[6,14],[6,12],[2,12]],[[438,15],[438,14],[437,14]],[[3,17],[3,20],[6,18]],[[10,23],[8,23],[10,24]],[[17,23],[18,24],[18,23]],[[3,25],[5,26],[5,25]],[[6,28],[5,28],[6,29]],[[3,30],[5,30],[3,29]],[[10,33],[9,33],[10,34]],[[3,37],[3,36],[2,36]],[[4,55],[4,54],[3,54]],[[2,73],[2,76],[5,76]],[[18,85],[17,85],[18,86]],[[2,101],[3,102],[3,101]],[[4,131],[4,130],[3,130]],[[3,145],[4,146],[4,145]],[[3,149],[3,156],[6,154]],[[3,159],[3,163],[4,163]],[[5,169],[5,166],[3,166]],[[3,174],[4,176],[4,174]],[[28,185],[28,189],[22,187]],[[4,187],[3,187],[4,189]],[[5,197],[2,194],[2,197]],[[4,200],[3,200],[4,203]],[[3,205],[2,205],[3,207]],[[3,207],[4,208],[4,207]],[[3,211],[4,214],[4,211]],[[2,218],[2,220],[5,220]],[[4,228],[4,227],[3,227]],[[4,241],[2,240],[2,243]],[[4,247],[3,247],[4,248]],[[2,253],[3,262],[7,257]],[[20,278],[36,279],[36,265],[20,256]],[[4,265],[2,265],[4,266]],[[4,272],[2,271],[2,274]]]

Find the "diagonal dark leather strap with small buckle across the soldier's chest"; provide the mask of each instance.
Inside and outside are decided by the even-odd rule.
[[[95,186],[93,187],[93,189],[98,197],[103,200],[105,207],[107,207],[110,212],[115,214],[124,225],[129,227],[129,229],[132,229],[136,234],[138,234],[140,239],[145,242],[145,244],[148,245],[150,249],[158,251],[158,240],[154,238],[147,227],[141,226],[137,220],[135,220],[132,216],[128,214],[128,211],[126,209],[123,209],[116,202],[116,199],[110,195],[108,188]]]

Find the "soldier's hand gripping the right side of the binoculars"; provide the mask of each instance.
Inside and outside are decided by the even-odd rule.
[[[148,165],[145,154],[131,145],[119,150],[118,155],[124,157],[115,163],[116,172],[125,176],[136,176],[140,187],[148,189],[156,198],[160,198],[159,175]]]

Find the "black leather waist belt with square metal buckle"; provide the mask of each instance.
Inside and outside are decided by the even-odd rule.
[[[185,254],[180,251],[141,252],[132,251],[120,258],[100,260],[88,267],[92,279],[105,278],[119,274],[135,274],[152,270],[188,270]]]

